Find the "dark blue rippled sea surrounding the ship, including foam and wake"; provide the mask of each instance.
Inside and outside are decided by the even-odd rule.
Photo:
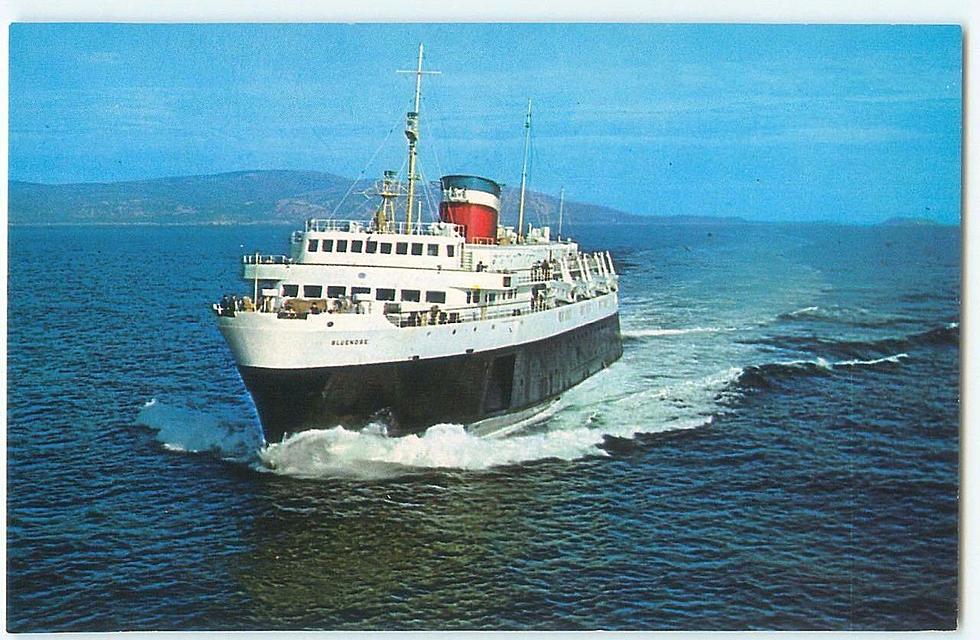
[[[959,229],[581,227],[543,422],[264,448],[208,304],[288,231],[10,229],[10,630],[956,626]]]

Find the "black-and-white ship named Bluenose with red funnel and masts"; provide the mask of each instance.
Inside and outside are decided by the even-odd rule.
[[[385,171],[370,220],[308,219],[288,254],[243,256],[251,295],[212,305],[267,443],[337,425],[500,435],[622,355],[609,252],[562,238],[560,221],[555,237],[525,226],[530,101],[517,226],[501,224],[501,185],[467,174],[439,179],[423,220],[422,60],[419,45],[407,184]]]

